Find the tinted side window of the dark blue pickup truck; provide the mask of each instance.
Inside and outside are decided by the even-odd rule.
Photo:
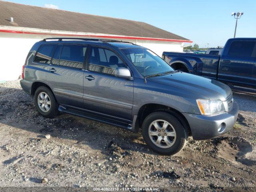
[[[234,57],[252,57],[255,42],[253,41],[234,41],[232,42],[228,55]]]

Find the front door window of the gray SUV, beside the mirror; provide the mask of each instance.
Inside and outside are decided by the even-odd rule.
[[[92,47],[89,58],[88,70],[114,75],[118,67],[126,67],[122,60],[112,51]]]

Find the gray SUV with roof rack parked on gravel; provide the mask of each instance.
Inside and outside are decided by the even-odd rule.
[[[20,84],[45,117],[59,112],[142,135],[159,154],[233,128],[238,106],[216,80],[175,71],[151,50],[129,42],[48,38],[34,44]]]

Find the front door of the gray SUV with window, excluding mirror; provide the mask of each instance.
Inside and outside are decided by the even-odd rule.
[[[132,116],[133,79],[114,76],[117,67],[128,68],[112,50],[90,48],[84,72],[84,108],[126,122]]]

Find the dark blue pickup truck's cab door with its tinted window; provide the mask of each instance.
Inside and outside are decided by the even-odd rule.
[[[256,79],[253,77],[255,41],[234,40],[228,51],[225,51],[220,60],[218,80],[255,86]]]

